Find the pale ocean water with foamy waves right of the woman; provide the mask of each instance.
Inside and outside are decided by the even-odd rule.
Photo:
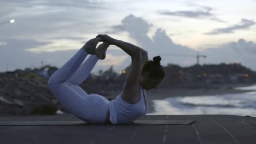
[[[148,115],[240,115],[256,116],[256,85],[237,87],[253,92],[239,94],[170,97],[153,100],[154,112]]]

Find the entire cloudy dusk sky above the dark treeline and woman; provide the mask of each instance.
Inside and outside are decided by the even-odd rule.
[[[0,71],[60,68],[85,43],[108,34],[161,56],[162,65],[241,63],[256,70],[256,1],[0,0]],[[14,23],[9,23],[14,19]],[[131,57],[111,45],[92,70]]]

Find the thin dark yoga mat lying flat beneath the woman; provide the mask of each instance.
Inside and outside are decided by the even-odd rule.
[[[194,120],[148,120],[135,121],[133,123],[118,123],[115,125],[188,125]],[[86,123],[84,121],[11,121],[0,122],[0,125],[114,125],[104,123]]]

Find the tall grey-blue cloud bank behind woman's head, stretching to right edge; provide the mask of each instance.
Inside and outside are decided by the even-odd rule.
[[[125,20],[125,21],[124,21]],[[138,26],[138,27],[136,27]],[[142,29],[139,29],[142,27]],[[150,25],[141,17],[134,15],[126,16],[121,25],[112,27],[112,31],[128,32],[130,37],[135,39],[139,46],[148,51],[149,59],[160,55],[162,57],[161,64],[168,63],[179,64],[182,67],[196,64],[196,51],[190,47],[175,43],[164,29],[159,28],[150,39],[147,36]],[[255,55],[256,44],[252,41],[240,39],[238,41],[208,46],[209,49],[199,51],[201,55],[206,55],[206,58],[200,59],[200,64],[219,64],[240,62],[248,68],[256,70]],[[172,55],[167,55],[168,53]],[[184,55],[184,56],[181,56]],[[190,55],[190,56],[185,56]],[[123,65],[130,65],[131,59],[128,57]]]

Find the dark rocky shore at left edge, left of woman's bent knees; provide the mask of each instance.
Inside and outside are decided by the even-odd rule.
[[[0,85],[0,115],[27,116],[40,111],[51,114],[62,108],[43,77],[1,77]]]

